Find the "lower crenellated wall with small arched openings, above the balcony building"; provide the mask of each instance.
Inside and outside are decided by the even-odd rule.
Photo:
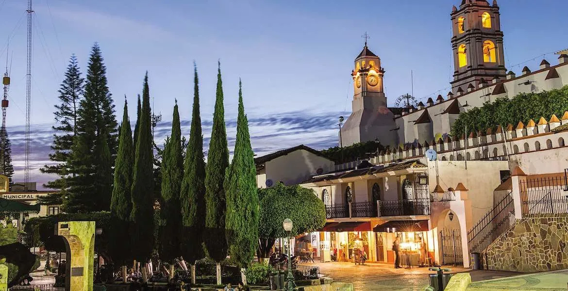
[[[513,165],[521,165],[524,168],[532,168],[534,172],[562,172],[568,162],[568,152],[563,147],[568,142],[568,111],[561,119],[553,115],[546,121],[544,117],[535,123],[529,120],[525,126],[519,122],[516,126],[509,124],[506,129],[498,128],[495,132],[487,129],[486,132],[471,133],[469,137],[452,141],[449,137],[445,140],[426,141],[424,144],[407,145],[404,149],[387,149],[377,157],[371,158],[370,163],[381,165],[406,159],[420,159],[424,157],[428,149],[436,150],[440,161],[474,161],[474,160],[500,160],[509,159]],[[541,153],[558,156],[558,169],[548,165],[526,165],[528,161],[538,163]],[[524,155],[531,155],[531,159],[525,159]],[[566,159],[566,161],[564,161]],[[353,161],[336,165],[336,170],[353,168],[360,163]],[[529,173],[530,174],[530,173]]]

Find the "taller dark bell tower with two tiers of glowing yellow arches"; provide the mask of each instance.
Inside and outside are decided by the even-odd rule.
[[[497,1],[489,5],[486,0],[462,0],[460,8],[452,11],[452,50],[454,55],[454,81],[452,91],[463,91],[471,84],[491,82],[505,78],[503,32],[499,20]]]

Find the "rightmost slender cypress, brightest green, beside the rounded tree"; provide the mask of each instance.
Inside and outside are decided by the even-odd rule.
[[[250,146],[240,81],[235,152],[225,178],[224,188],[227,193],[225,229],[229,239],[229,254],[231,260],[244,269],[254,258],[258,246],[259,210],[256,167]]]

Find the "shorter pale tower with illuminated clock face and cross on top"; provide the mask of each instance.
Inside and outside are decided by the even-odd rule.
[[[396,144],[394,115],[387,107],[383,90],[381,58],[365,47],[355,58],[353,78],[352,113],[341,127],[340,144],[349,146],[358,142],[377,140],[384,146]]]

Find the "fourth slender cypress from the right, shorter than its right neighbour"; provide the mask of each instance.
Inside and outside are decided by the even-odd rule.
[[[162,158],[162,185],[160,216],[160,259],[170,263],[169,279],[174,276],[174,259],[180,255],[179,230],[181,229],[181,206],[179,191],[183,179],[181,125],[176,100],[172,120],[172,136],[166,142]]]

